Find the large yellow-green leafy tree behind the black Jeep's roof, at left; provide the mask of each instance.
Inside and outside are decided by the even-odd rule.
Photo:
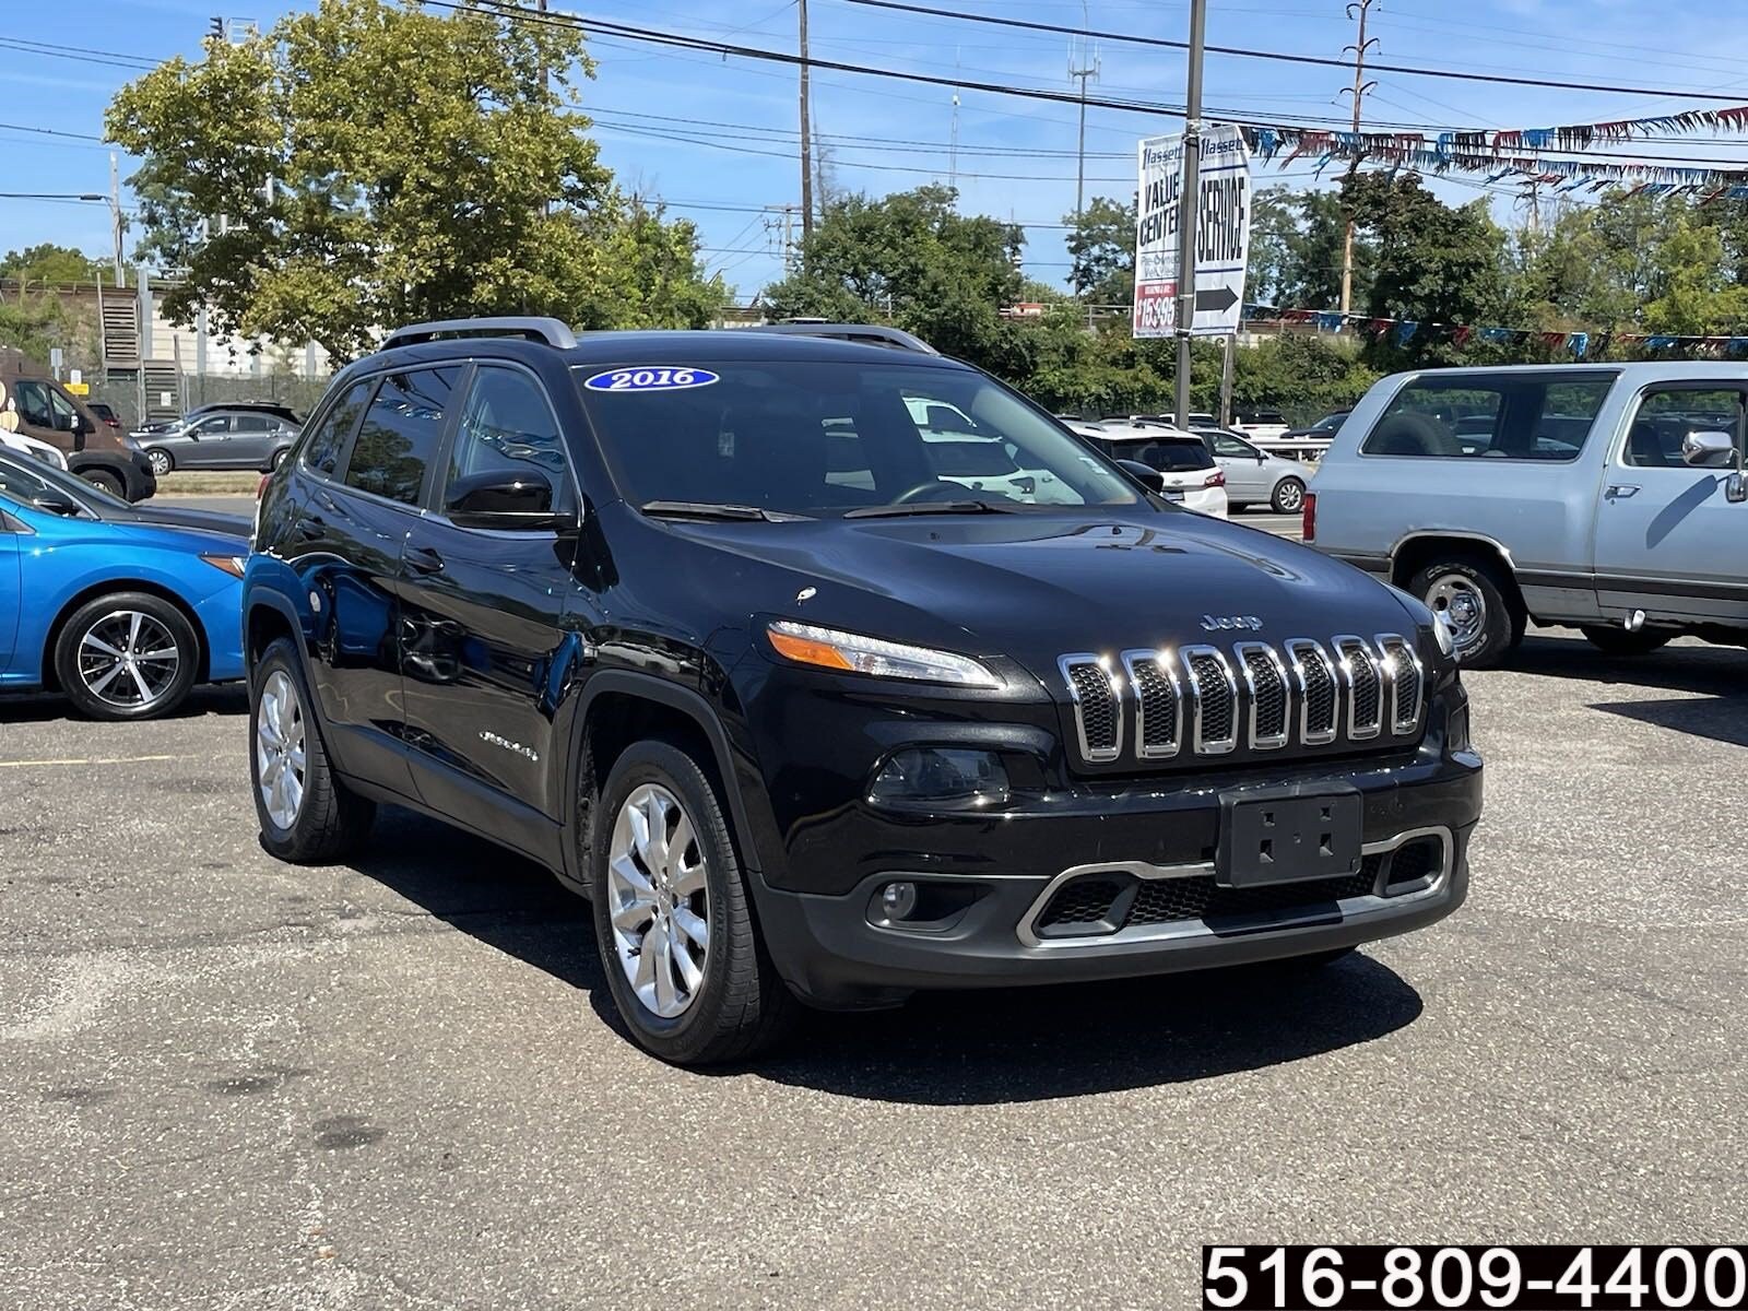
[[[692,229],[596,161],[572,108],[591,73],[575,28],[390,0],[322,0],[159,65],[107,126],[143,161],[140,253],[182,278],[166,313],[341,358],[454,315],[708,322],[725,288]]]

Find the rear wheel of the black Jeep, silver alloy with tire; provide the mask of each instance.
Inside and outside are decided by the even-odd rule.
[[[329,865],[357,850],[376,804],[334,776],[309,710],[302,661],[280,638],[248,683],[248,781],[267,855],[297,865]]]

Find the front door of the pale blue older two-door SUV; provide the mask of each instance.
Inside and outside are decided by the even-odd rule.
[[[1724,496],[1725,468],[1682,460],[1690,432],[1727,432],[1745,451],[1736,381],[1645,388],[1603,477],[1596,509],[1596,600],[1610,619],[1748,622],[1748,503]]]

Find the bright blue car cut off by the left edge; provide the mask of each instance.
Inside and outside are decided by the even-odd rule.
[[[175,710],[243,676],[250,521],[128,502],[0,453],[0,690],[58,689],[93,718]]]

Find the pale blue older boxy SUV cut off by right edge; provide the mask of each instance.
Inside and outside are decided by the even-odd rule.
[[[1306,540],[1444,614],[1470,664],[1531,621],[1610,654],[1743,645],[1745,397],[1731,364],[1397,374],[1337,432]]]

